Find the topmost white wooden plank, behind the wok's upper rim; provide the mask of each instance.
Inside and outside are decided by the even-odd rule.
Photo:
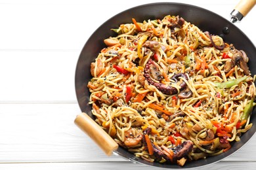
[[[212,10],[228,20],[230,12],[234,9],[233,2],[223,3],[221,0],[179,2]],[[108,1],[75,1],[74,3],[70,3],[70,1],[3,1],[0,3],[0,16],[8,16],[1,17],[0,49],[81,50],[90,35],[112,16],[131,7],[155,3],[155,1],[131,0],[129,3],[126,1],[119,1],[119,3]],[[223,5],[222,8],[217,6],[220,3]],[[95,5],[97,5],[96,10]],[[106,9],[111,10],[104,12]],[[251,24],[255,15],[255,10],[252,10],[241,25],[241,29],[254,42],[255,34],[247,25]]]

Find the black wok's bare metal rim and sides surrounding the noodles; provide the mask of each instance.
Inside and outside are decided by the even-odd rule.
[[[223,37],[225,42],[234,44],[238,49],[243,49],[249,57],[248,65],[251,70],[251,74],[256,74],[256,67],[253,67],[253,63],[256,63],[255,46],[249,38],[240,29],[238,29],[238,27],[236,27],[236,25],[224,19],[222,16],[200,7],[182,3],[152,3],[140,5],[138,7],[125,10],[110,18],[96,29],[83,47],[77,61],[75,71],[75,91],[77,101],[82,112],[86,112],[91,118],[95,119],[91,113],[91,106],[88,104],[90,92],[87,89],[87,83],[91,79],[89,68],[91,67],[91,62],[98,56],[98,52],[106,46],[103,40],[110,36],[116,36],[116,33],[110,29],[117,28],[120,24],[131,23],[131,18],[136,18],[137,22],[143,22],[143,20],[163,18],[168,14],[175,16],[179,15],[184,18],[184,20],[197,25],[203,31],[209,31],[211,34],[220,35]],[[228,31],[226,31],[226,27],[228,27]],[[252,114],[256,114],[255,109]],[[251,116],[251,122],[256,124],[256,116]],[[244,144],[251,139],[255,131],[256,126],[252,126],[249,131],[242,135],[240,142],[232,143],[232,148],[227,152],[224,152],[219,156],[209,157],[205,160],[186,162],[182,168],[200,167],[223,160],[223,158],[230,156],[230,154],[233,154],[244,146]],[[133,153],[128,152],[121,147],[117,148],[114,152],[131,161],[144,163],[146,165],[173,169],[181,168],[179,165],[167,165],[156,162],[150,163],[140,158],[135,158]]]

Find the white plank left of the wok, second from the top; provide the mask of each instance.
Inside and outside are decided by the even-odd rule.
[[[0,51],[0,102],[75,102],[78,50]]]

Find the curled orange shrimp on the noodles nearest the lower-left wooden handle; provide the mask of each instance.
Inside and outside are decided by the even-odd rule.
[[[142,139],[142,133],[138,133],[138,135],[134,135],[132,129],[125,131],[125,146],[133,147],[140,143]]]

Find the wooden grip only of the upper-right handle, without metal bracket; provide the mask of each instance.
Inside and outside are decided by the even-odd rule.
[[[255,4],[256,0],[241,0],[234,9],[238,10],[243,16],[245,16],[251,9],[253,9]]]

